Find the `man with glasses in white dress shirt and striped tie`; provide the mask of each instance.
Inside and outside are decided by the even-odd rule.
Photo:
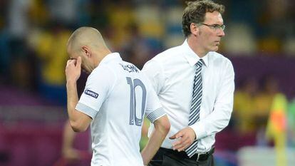
[[[229,123],[234,94],[232,63],[216,52],[224,36],[223,11],[210,0],[188,2],[185,42],[143,67],[171,123],[152,166],[214,165],[215,134]]]

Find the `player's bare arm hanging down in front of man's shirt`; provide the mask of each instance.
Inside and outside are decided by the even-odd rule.
[[[144,165],[148,165],[152,157],[154,157],[155,153],[162,145],[163,140],[170,130],[170,122],[167,118],[167,115],[163,115],[161,118],[158,118],[153,124],[155,128],[150,135],[147,145],[141,152]]]

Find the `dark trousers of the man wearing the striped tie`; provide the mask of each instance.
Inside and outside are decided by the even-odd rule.
[[[195,161],[189,157],[183,157],[184,153],[177,154],[161,147],[148,166],[214,166],[212,154],[209,154],[207,160]]]

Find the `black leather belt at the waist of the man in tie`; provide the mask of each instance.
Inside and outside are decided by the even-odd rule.
[[[165,151],[167,154],[171,154],[171,155],[174,155],[176,157],[180,157],[180,158],[186,158],[186,159],[190,159],[190,160],[194,160],[194,161],[197,161],[197,162],[200,162],[200,161],[205,161],[208,159],[208,157],[210,155],[213,154],[215,148],[212,147],[211,150],[209,150],[209,152],[205,152],[205,153],[196,153],[195,155],[193,155],[192,157],[188,157],[187,156],[187,153],[185,151],[181,151],[181,152],[178,152],[177,150],[171,150],[171,149],[166,149],[164,147],[160,147],[160,150],[163,150]]]

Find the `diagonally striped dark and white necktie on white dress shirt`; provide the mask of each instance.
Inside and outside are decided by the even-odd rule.
[[[190,106],[190,118],[189,118],[189,126],[195,124],[200,119],[200,106],[202,102],[202,65],[203,60],[200,59],[195,66],[197,66],[197,69],[195,71],[195,79],[194,79],[194,85],[193,85],[193,91],[192,91],[192,105]],[[197,151],[197,140],[195,142],[192,142],[192,145],[190,147],[187,147],[185,152],[187,152],[187,155],[189,157],[192,157],[192,155],[195,155],[195,152]]]

